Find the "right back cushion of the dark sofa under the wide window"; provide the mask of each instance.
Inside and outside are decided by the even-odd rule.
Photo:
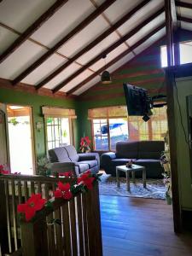
[[[165,150],[163,141],[142,141],[138,142],[139,159],[160,159],[160,154]]]

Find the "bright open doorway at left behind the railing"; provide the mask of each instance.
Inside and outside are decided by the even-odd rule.
[[[7,105],[9,162],[12,173],[35,173],[32,108]]]

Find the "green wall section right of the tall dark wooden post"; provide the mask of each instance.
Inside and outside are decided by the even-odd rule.
[[[177,79],[177,95],[174,91],[175,113],[176,113],[176,134],[177,134],[177,165],[179,176],[179,192],[181,196],[182,207],[192,210],[192,184],[190,172],[189,159],[189,144],[185,142],[184,132],[182,128],[181,118],[183,120],[183,127],[188,137],[188,115],[186,96],[192,95],[192,78]],[[181,107],[181,114],[178,108],[178,102]],[[182,115],[182,117],[181,117]]]

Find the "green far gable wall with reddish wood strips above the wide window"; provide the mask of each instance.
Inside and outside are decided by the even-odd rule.
[[[130,83],[146,88],[150,96],[165,92],[165,76],[160,64],[160,41],[154,47],[138,55],[112,74],[112,84],[96,84],[87,90],[79,99],[78,126],[79,137],[84,134],[91,136],[90,120],[87,119],[88,109],[115,105],[125,105],[123,83]]]

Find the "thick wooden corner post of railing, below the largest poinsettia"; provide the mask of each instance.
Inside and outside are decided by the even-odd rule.
[[[22,222],[20,230],[24,256],[49,255],[46,218],[34,223]]]

